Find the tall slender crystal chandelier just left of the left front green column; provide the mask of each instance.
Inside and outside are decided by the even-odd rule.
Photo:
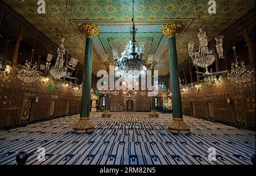
[[[64,77],[67,74],[67,67],[64,67],[64,57],[63,55],[65,54],[65,48],[64,48],[64,36],[61,37],[61,44],[60,47],[57,49],[57,60],[54,66],[49,70],[49,74],[52,75],[54,79],[60,79]]]

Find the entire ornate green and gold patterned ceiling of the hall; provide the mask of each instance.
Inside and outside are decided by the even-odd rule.
[[[216,2],[217,13],[210,15],[208,14],[208,0],[197,1],[201,23],[207,32],[209,41],[255,7],[254,0],[218,0]],[[85,41],[77,32],[76,26],[78,22],[84,20],[96,22],[100,35],[94,38],[94,74],[97,70],[105,68],[104,62],[113,62],[112,49],[118,49],[118,53],[121,54],[126,42],[131,38],[130,19],[133,6],[131,0],[69,1],[66,21],[64,20],[66,7],[64,0],[46,0],[46,14],[37,13],[38,5],[34,0],[9,0],[7,3],[56,44],[60,43],[60,36],[65,26],[64,46],[68,53],[79,59],[82,64]],[[167,38],[160,32],[164,20],[168,19],[180,19],[184,24],[183,30],[177,36],[178,62],[181,63],[188,58],[187,43],[189,41],[195,42],[195,48],[198,48],[197,32],[200,23],[197,18],[195,1],[135,0],[137,41],[146,42],[145,55],[155,55],[158,60],[156,69],[159,70],[160,75],[166,75],[169,72]]]

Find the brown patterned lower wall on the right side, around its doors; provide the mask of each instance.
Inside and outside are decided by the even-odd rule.
[[[191,114],[191,101],[195,101],[195,108],[207,110],[207,101],[212,101],[214,120],[235,125],[236,113],[234,103],[228,104],[227,98],[241,96],[245,125],[255,128],[255,78],[243,84],[233,83],[222,75],[221,83],[214,85],[199,84],[197,89],[181,92],[184,114]],[[199,111],[193,112],[199,116]],[[207,118],[206,114],[203,118]]]

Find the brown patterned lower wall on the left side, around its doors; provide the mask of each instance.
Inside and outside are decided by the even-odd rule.
[[[79,113],[81,97],[76,96],[72,89],[60,86],[56,91],[46,91],[47,83],[23,83],[16,77],[16,72],[17,70],[12,69],[7,80],[0,74],[0,127],[20,123],[22,107],[24,108],[23,97],[28,94],[38,97],[38,102],[33,103],[29,118],[23,119],[24,122],[49,118],[52,96],[57,97],[54,117],[65,115],[68,100],[72,100],[69,114]],[[26,107],[29,109],[27,105]]]

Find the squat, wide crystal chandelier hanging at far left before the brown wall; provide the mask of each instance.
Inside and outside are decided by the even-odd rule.
[[[36,71],[36,62],[34,65],[32,64],[34,53],[35,50],[32,49],[30,62],[27,62],[26,60],[25,66],[22,67],[22,70],[20,70],[17,75],[18,79],[22,80],[24,83],[32,83],[39,79],[39,73]]]

